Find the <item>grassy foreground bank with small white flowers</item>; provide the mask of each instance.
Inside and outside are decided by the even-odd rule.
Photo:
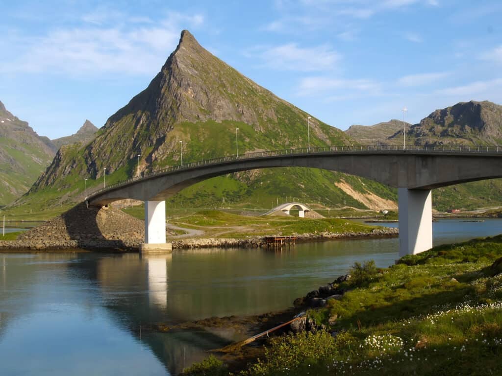
[[[235,374],[499,374],[502,235],[436,247],[387,269],[355,264],[350,273],[337,285],[340,300],[308,312],[326,330],[274,337]],[[213,373],[185,374],[229,374],[208,364]]]

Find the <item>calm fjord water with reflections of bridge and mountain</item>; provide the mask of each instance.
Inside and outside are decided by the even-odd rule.
[[[444,220],[434,223],[434,243],[500,232],[502,219]],[[0,254],[0,374],[176,374],[242,334],[160,333],[153,323],[284,309],[355,261],[384,267],[397,257],[396,238],[144,258]]]

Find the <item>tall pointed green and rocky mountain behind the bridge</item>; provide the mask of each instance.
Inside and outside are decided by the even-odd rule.
[[[242,76],[203,49],[187,31],[150,85],[118,110],[87,145],[61,147],[17,205],[30,209],[71,203],[88,190],[143,171],[247,151],[307,146],[307,114]],[[180,143],[182,141],[182,143]],[[310,121],[311,146],[351,143],[344,132]],[[139,163],[137,155],[140,154]],[[365,208],[395,205],[396,195],[374,183],[328,171],[284,168],[247,171],[196,184],[171,200],[179,206],[223,202],[270,208],[279,197]],[[356,196],[372,201],[355,200]],[[389,201],[385,201],[388,199]]]

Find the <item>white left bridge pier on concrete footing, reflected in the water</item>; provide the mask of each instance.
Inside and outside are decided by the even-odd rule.
[[[145,201],[145,243],[141,245],[141,254],[171,251],[171,243],[166,243],[166,202]]]

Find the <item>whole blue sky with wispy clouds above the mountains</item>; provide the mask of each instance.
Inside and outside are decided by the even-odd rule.
[[[187,3],[189,5],[183,4]],[[40,134],[104,125],[188,29],[239,72],[346,129],[502,104],[499,0],[4,1],[0,100]]]

